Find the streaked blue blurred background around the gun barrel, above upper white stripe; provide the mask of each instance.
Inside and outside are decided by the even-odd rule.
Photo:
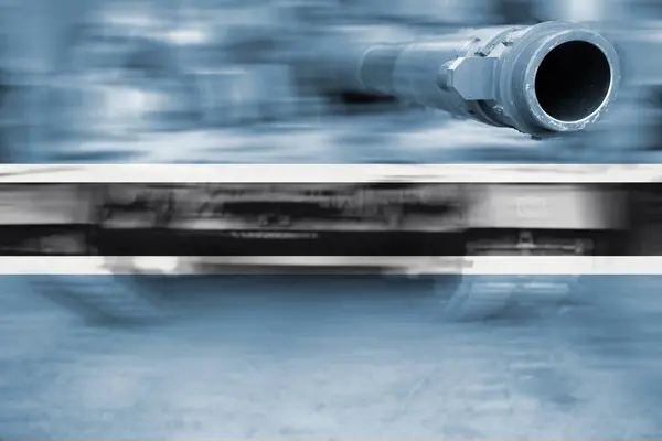
[[[544,149],[509,130],[366,97],[321,99],[297,55],[328,50],[310,47],[320,35],[387,42],[554,19],[627,34],[629,69],[654,62],[662,43],[653,0],[2,0],[0,11],[3,162],[461,162],[468,150],[440,154],[467,146],[516,147],[473,157],[527,161]],[[658,76],[623,94],[637,117],[617,111],[607,136],[566,143],[655,149]]]

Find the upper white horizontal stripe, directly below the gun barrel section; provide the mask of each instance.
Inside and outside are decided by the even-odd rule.
[[[648,183],[662,181],[662,164],[110,164],[0,165],[0,183]]]

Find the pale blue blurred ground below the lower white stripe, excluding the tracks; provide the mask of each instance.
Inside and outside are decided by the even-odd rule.
[[[167,324],[108,330],[3,277],[0,437],[659,438],[661,288],[450,325],[426,281],[196,278],[168,286]]]

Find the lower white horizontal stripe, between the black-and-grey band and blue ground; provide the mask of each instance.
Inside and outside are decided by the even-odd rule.
[[[337,272],[353,273],[350,267],[362,267],[366,273],[467,273],[467,275],[662,275],[662,256],[655,257],[328,257],[328,256],[289,256],[289,257],[141,257],[143,268],[161,268],[170,266],[173,259],[184,262],[186,259],[197,259],[209,265],[215,265],[211,273],[228,273],[243,268],[239,272],[297,273],[314,272],[322,268],[337,268]],[[168,263],[164,263],[169,261]],[[181,265],[173,273],[195,273]],[[270,268],[270,269],[269,269]],[[381,268],[392,268],[382,271]],[[135,270],[124,270],[121,273],[134,273]],[[143,271],[145,272],[145,271]],[[147,273],[158,273],[148,270]],[[324,271],[325,272],[325,271]],[[0,257],[0,275],[106,275],[100,257]]]

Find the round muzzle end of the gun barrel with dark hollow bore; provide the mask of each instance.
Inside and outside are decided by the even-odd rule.
[[[578,131],[597,122],[620,80],[613,46],[595,33],[564,33],[543,45],[526,73],[526,100],[547,130]]]

